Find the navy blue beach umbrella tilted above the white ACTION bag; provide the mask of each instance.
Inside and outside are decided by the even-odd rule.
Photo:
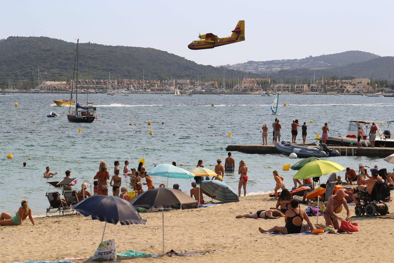
[[[71,205],[71,209],[78,211],[83,216],[91,216],[93,220],[105,222],[101,242],[104,238],[107,223],[114,225],[118,222],[122,225],[146,225],[147,223],[147,220],[142,219],[138,211],[128,201],[117,196],[90,196],[75,205]]]

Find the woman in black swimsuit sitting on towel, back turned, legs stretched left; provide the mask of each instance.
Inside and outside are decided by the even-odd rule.
[[[274,226],[271,229],[264,230],[262,228],[258,228],[258,230],[261,233],[266,233],[266,232],[273,232],[273,231],[278,231],[279,233],[282,234],[296,234],[296,233],[301,233],[301,226],[302,226],[302,221],[305,219],[307,221],[310,229],[314,229],[312,222],[310,222],[310,219],[305,213],[303,209],[300,209],[298,207],[299,202],[298,200],[293,200],[290,202],[290,205],[292,206],[292,209],[289,209],[284,217],[284,222],[286,222],[285,226]]]

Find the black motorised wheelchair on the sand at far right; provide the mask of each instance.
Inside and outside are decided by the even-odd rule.
[[[359,191],[360,205],[355,207],[355,215],[375,216],[377,214],[387,215],[388,206],[385,202],[391,201],[390,187],[386,183],[376,182],[371,194],[366,191]]]

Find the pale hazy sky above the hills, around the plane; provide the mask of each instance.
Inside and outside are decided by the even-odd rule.
[[[347,50],[393,56],[394,1],[5,1],[0,38],[151,47],[204,65],[305,58]],[[227,37],[245,20],[245,41],[209,50],[201,34]]]

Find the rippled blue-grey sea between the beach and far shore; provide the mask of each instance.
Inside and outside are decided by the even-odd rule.
[[[113,175],[113,162],[119,160],[123,169],[125,160],[129,168],[137,167],[138,160],[145,158],[149,171],[152,163],[184,164],[192,168],[199,159],[207,168],[216,164],[217,157],[227,157],[225,150],[229,144],[261,143],[261,127],[271,123],[273,97],[257,95],[193,95],[175,97],[174,95],[134,95],[108,96],[89,95],[89,101],[98,106],[99,119],[93,123],[71,123],[67,121],[67,107],[58,107],[54,99],[69,99],[69,95],[58,94],[15,94],[0,96],[0,212],[14,214],[20,201],[26,199],[35,215],[45,214],[48,200],[45,193],[48,181],[58,181],[71,170],[77,177],[77,188],[83,181],[93,184],[93,176],[99,168],[100,160],[105,160],[110,175]],[[79,95],[81,103],[86,95]],[[16,108],[14,104],[18,103]],[[211,104],[215,104],[214,107]],[[282,106],[286,103],[287,106]],[[351,120],[392,120],[393,98],[368,98],[366,96],[312,96],[286,95],[279,97],[277,116],[281,120],[282,139],[291,141],[292,119],[299,119],[308,125],[307,142],[315,142],[316,133],[322,133],[325,122],[329,134],[346,135]],[[47,118],[51,112],[60,116]],[[309,123],[312,120],[313,123]],[[33,123],[35,121],[35,123]],[[147,122],[151,121],[148,126]],[[164,122],[164,125],[162,125]],[[128,126],[139,123],[140,126]],[[78,128],[82,132],[78,133]],[[153,131],[149,135],[149,130]],[[299,129],[301,130],[301,129]],[[227,136],[228,132],[232,136]],[[268,141],[272,142],[269,132]],[[301,131],[297,142],[301,142]],[[6,156],[12,153],[13,159]],[[284,164],[294,164],[297,159],[285,155],[250,155],[233,152],[238,162],[245,160],[249,170],[248,194],[272,192],[275,186],[272,171],[278,170],[285,180],[286,187],[293,185],[293,170],[282,171]],[[28,160],[32,158],[32,160]],[[381,158],[368,157],[328,157],[345,167],[357,168],[359,163],[392,170],[392,165]],[[76,161],[79,161],[77,163]],[[22,168],[27,162],[28,168]],[[188,165],[188,166],[186,166]],[[51,179],[43,178],[45,167],[58,172]],[[268,168],[271,166],[272,168]],[[344,172],[340,172],[342,178]],[[328,175],[322,177],[325,179]],[[153,177],[156,187],[166,183],[164,177]],[[143,180],[144,181],[144,180]],[[234,190],[238,190],[238,173],[226,173],[224,180]],[[129,185],[124,179],[122,185]],[[169,179],[172,187],[178,183],[183,192],[189,193],[189,179]],[[144,187],[146,188],[146,187]],[[50,191],[54,190],[51,187]],[[89,190],[89,189],[88,189]],[[112,190],[110,188],[110,190]],[[145,189],[146,190],[146,189]],[[112,193],[112,191],[110,191]]]

